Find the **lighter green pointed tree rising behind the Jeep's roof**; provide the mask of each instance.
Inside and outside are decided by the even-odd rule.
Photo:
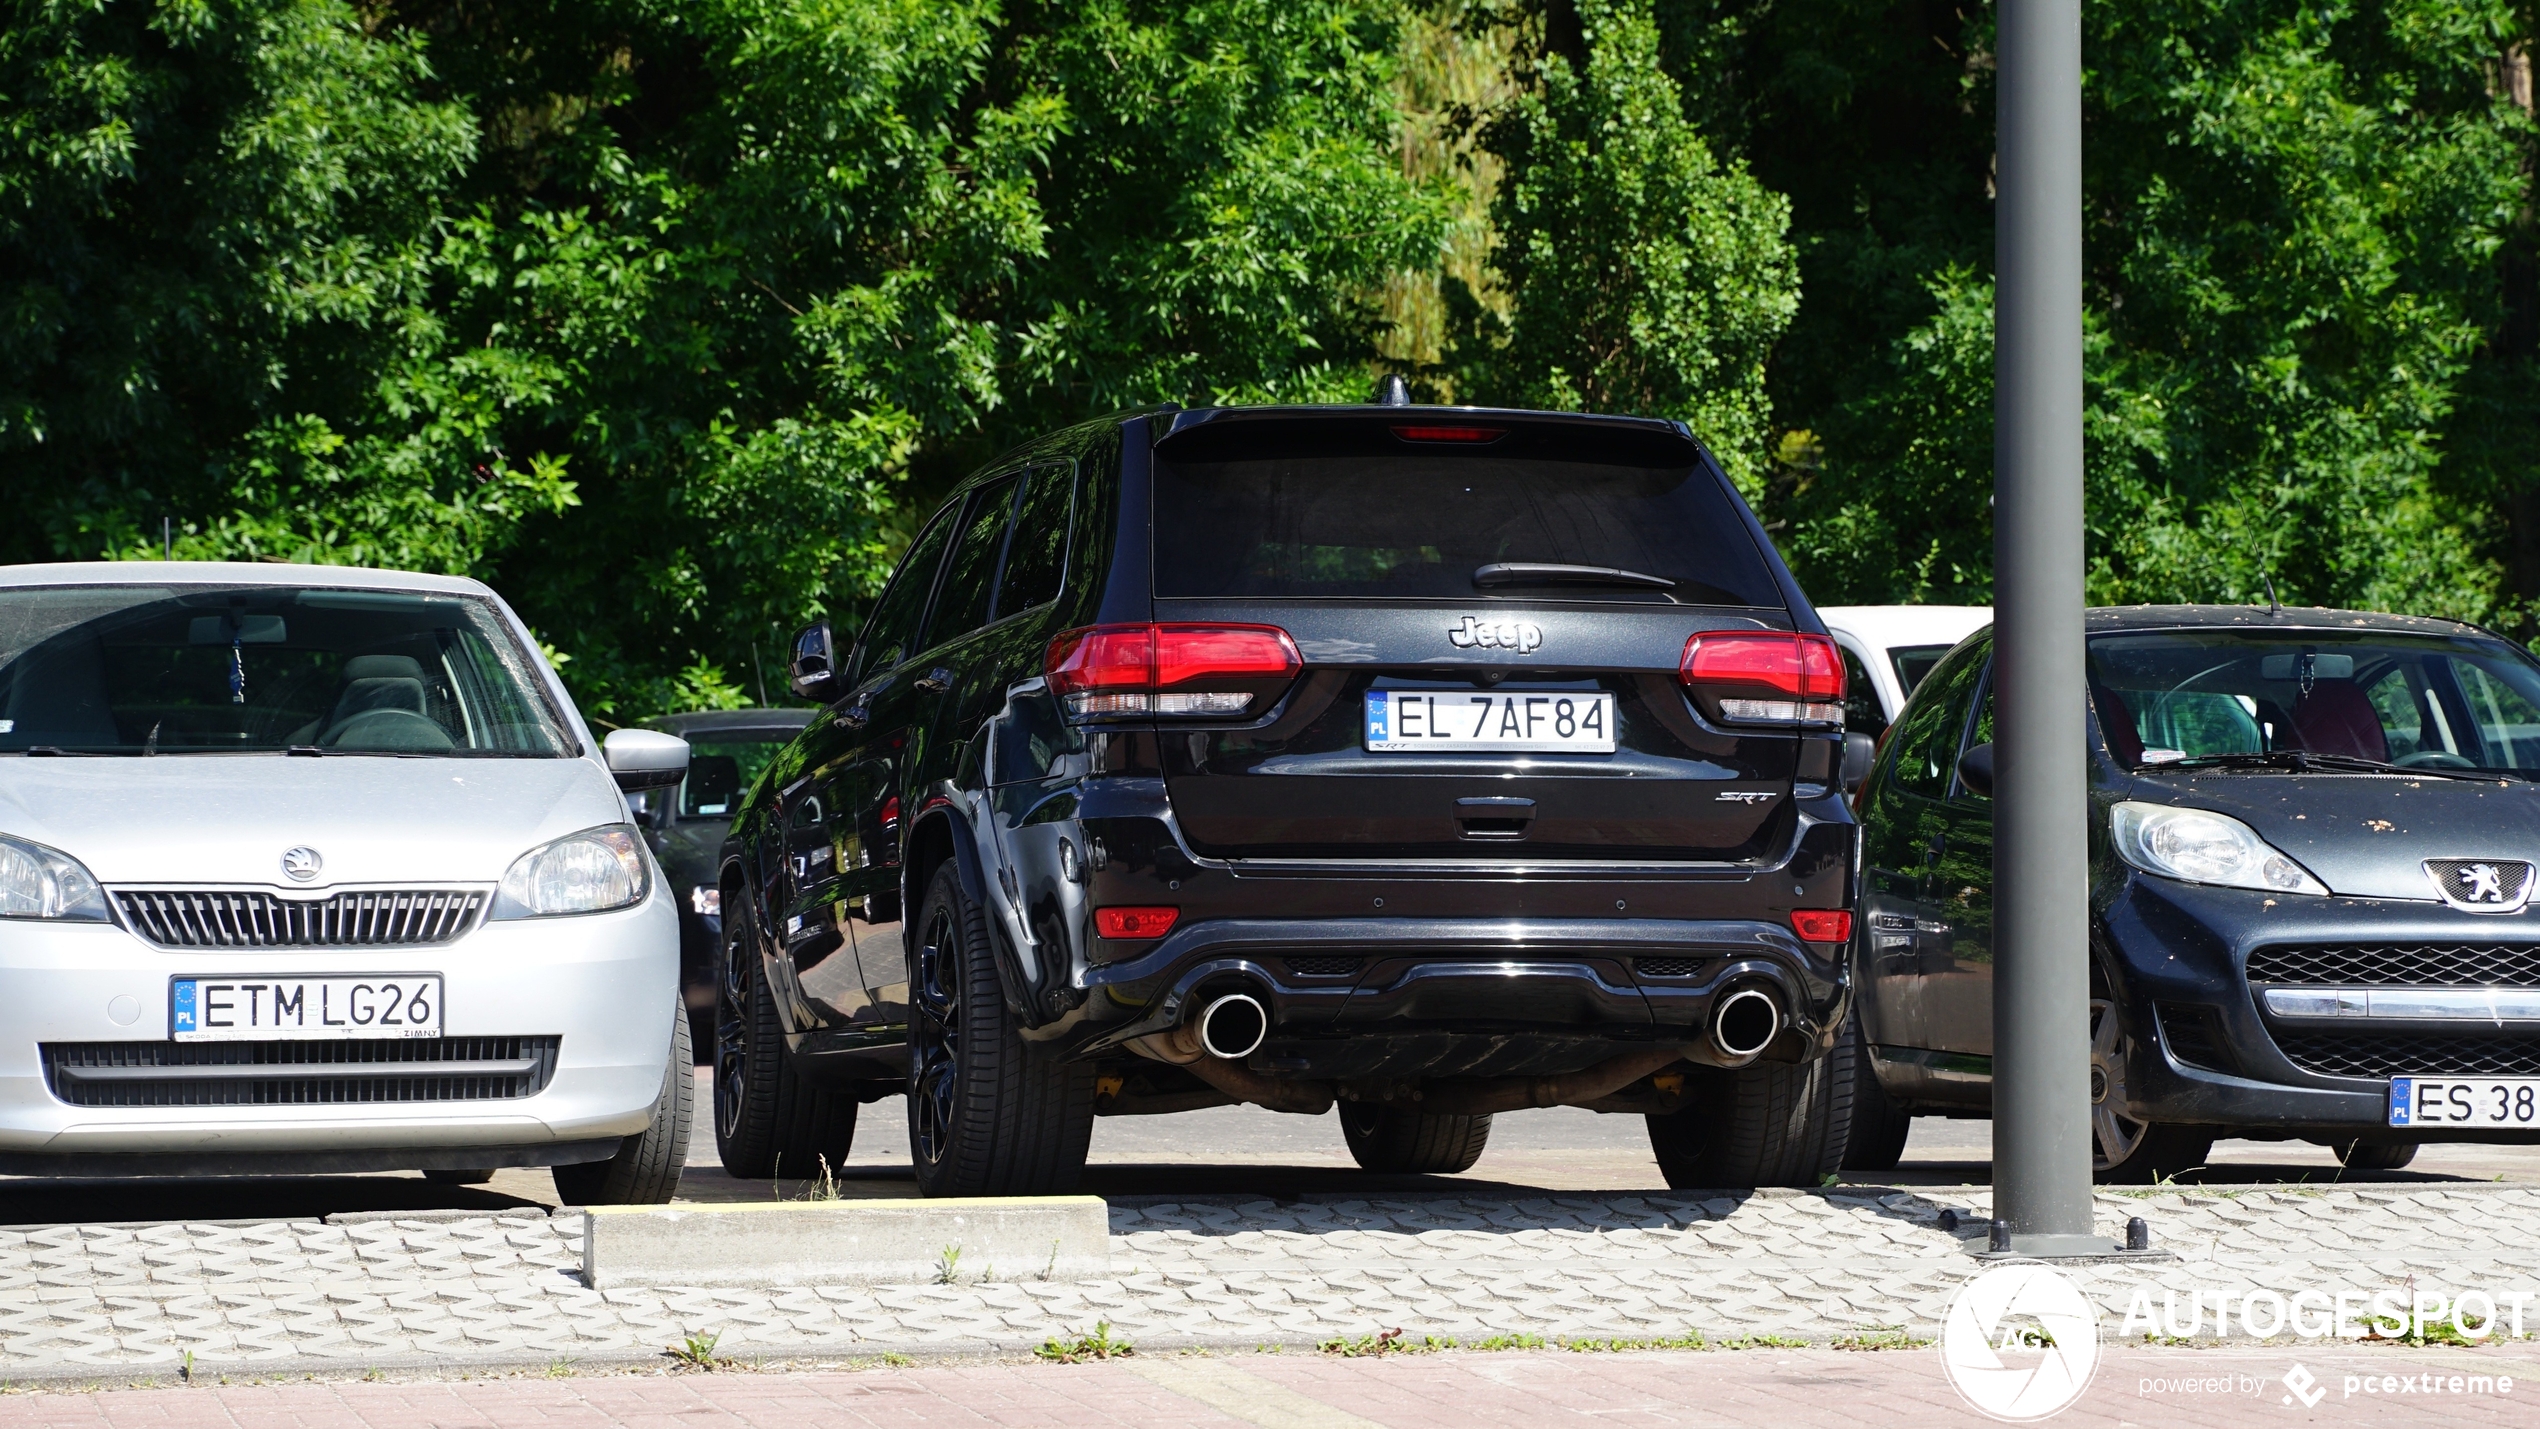
[[[1659,63],[1646,0],[1577,0],[1537,84],[1483,132],[1501,162],[1491,274],[1463,302],[1455,391],[1504,406],[1687,421],[1750,497],[1770,431],[1765,358],[1798,310],[1788,203],[1722,165]]]

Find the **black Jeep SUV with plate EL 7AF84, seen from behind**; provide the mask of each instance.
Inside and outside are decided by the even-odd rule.
[[[1844,675],[1671,421],[1138,411],[963,482],[724,845],[714,1129],[810,1175],[909,1096],[927,1195],[1092,1119],[1339,1104],[1359,1165],[1641,1112],[1671,1185],[1849,1122]]]

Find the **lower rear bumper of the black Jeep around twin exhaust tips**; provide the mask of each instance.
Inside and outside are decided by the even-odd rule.
[[[1742,985],[1770,987],[1791,1020],[1775,1053],[1831,1046],[1842,947],[1765,921],[1212,919],[1090,970],[1067,1041],[1105,1051],[1242,990],[1270,1010],[1260,1071],[1554,1074],[1697,1041],[1712,1003]]]

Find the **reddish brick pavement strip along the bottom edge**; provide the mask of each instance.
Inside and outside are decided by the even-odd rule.
[[[2195,1424],[2527,1426],[2540,1358],[2512,1350],[2332,1350],[2304,1360],[2316,1406],[2286,1404],[2291,1355],[2111,1350],[2070,1429]],[[2515,1371],[2527,1371],[2530,1381]],[[2355,1381],[2512,1376],[2504,1393],[2360,1393]],[[25,1429],[1773,1429],[1979,1421],[1933,1350],[1166,1355],[1090,1366],[973,1363],[856,1373],[630,1373],[419,1383],[259,1383],[0,1396]]]

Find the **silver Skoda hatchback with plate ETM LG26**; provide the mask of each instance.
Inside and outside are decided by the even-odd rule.
[[[483,584],[0,569],[0,1173],[549,1165],[668,1201],[678,916],[605,754]]]

